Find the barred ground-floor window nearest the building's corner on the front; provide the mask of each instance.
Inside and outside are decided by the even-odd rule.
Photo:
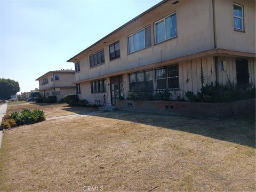
[[[156,69],[157,90],[179,89],[179,65],[172,65]]]

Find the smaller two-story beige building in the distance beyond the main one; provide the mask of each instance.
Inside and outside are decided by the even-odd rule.
[[[57,101],[67,94],[76,94],[76,85],[71,84],[75,81],[75,70],[62,69],[49,71],[37,78],[39,82],[40,94],[47,98],[56,95]]]

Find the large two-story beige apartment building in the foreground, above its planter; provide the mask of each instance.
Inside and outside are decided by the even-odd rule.
[[[70,58],[80,99],[115,105],[131,91],[255,85],[255,1],[162,1]],[[186,98],[185,98],[186,99]]]

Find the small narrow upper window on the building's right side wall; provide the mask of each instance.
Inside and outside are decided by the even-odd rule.
[[[234,4],[234,28],[244,30],[244,9],[242,5]]]

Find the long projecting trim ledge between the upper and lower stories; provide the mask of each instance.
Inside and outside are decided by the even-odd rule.
[[[181,61],[193,60],[193,59],[204,58],[204,57],[209,57],[209,56],[223,56],[223,57],[236,57],[236,58],[255,58],[255,53],[231,51],[231,50],[225,50],[225,49],[212,49],[212,50],[202,51],[202,52],[195,53],[195,54],[184,55],[182,57],[169,59],[169,60],[162,61],[162,62],[151,63],[151,64],[145,65],[145,66],[135,67],[135,68],[131,68],[131,69],[125,69],[125,70],[117,71],[117,72],[114,72],[114,73],[101,75],[101,76],[98,76],[98,77],[86,78],[86,79],[82,79],[81,81],[73,82],[71,84],[82,83],[82,82],[86,82],[86,81],[92,81],[92,80],[99,79],[99,78],[106,78],[106,77],[109,77],[109,76],[116,76],[116,75],[125,74],[125,73],[132,73],[132,72],[135,72],[135,71],[138,71],[138,70],[147,70],[147,69],[152,69],[152,68],[164,67],[164,66],[167,66],[167,65],[171,65],[171,64],[174,64],[174,63],[181,62]]]

